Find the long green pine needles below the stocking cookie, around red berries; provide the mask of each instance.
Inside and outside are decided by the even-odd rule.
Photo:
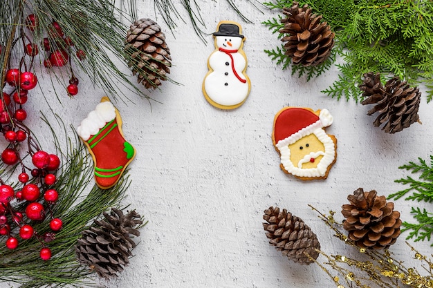
[[[96,186],[93,183],[92,159],[78,139],[68,140],[66,151],[61,153],[63,165],[57,171],[57,181],[53,185],[53,189],[59,192],[59,200],[52,213],[62,215],[64,225],[49,242],[53,256],[48,261],[42,260],[39,257],[41,244],[35,238],[20,242],[15,250],[0,245],[0,281],[16,282],[20,287],[28,288],[94,285],[90,280],[92,271],[77,262],[74,249],[77,238],[102,212],[118,207],[130,181],[128,177],[122,177],[116,186],[107,190]],[[4,166],[1,168],[3,177],[8,171],[4,170]],[[32,225],[40,235],[50,231],[49,221]],[[1,243],[6,240],[5,237],[0,238]]]

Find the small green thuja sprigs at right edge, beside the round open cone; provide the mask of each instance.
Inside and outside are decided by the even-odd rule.
[[[409,187],[389,195],[389,198],[399,199],[406,197],[405,200],[432,203],[433,155],[430,156],[430,163],[418,158],[418,162],[409,162],[409,164],[400,166],[400,169],[411,171],[418,177],[407,176],[396,180],[397,183],[409,185]],[[402,231],[408,230],[409,236],[407,236],[407,238],[415,238],[415,241],[430,241],[433,233],[433,213],[427,211],[425,208],[421,209],[419,207],[412,207],[412,213],[417,223],[403,222],[405,229],[402,229]]]

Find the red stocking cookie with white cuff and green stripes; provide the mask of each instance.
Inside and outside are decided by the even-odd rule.
[[[86,144],[95,165],[95,181],[101,189],[114,186],[136,155],[125,140],[122,118],[108,97],[82,120],[77,133]]]

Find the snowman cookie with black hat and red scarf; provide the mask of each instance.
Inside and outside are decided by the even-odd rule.
[[[221,21],[213,34],[215,50],[208,59],[209,72],[202,88],[206,100],[217,108],[237,108],[250,93],[247,59],[242,50],[245,37],[241,32],[239,23]]]

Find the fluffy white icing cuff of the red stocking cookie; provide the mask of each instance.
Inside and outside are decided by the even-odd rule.
[[[77,133],[82,140],[89,140],[91,135],[95,135],[104,127],[107,122],[116,118],[116,109],[111,102],[101,102],[96,105],[95,110],[91,111],[85,119],[82,120],[77,128]]]

